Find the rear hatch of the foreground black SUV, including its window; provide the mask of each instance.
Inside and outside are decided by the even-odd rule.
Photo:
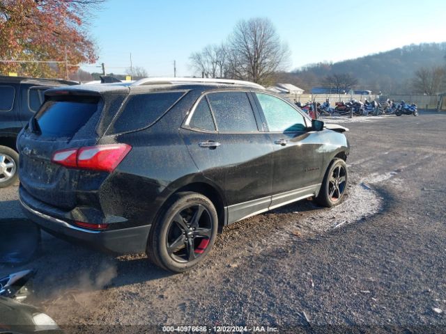
[[[127,94],[125,87],[47,90],[45,103],[17,141],[24,190],[67,211],[79,204],[94,205],[96,196],[89,195],[99,189],[108,173],[66,168],[54,164],[52,156],[59,150],[95,145]]]

